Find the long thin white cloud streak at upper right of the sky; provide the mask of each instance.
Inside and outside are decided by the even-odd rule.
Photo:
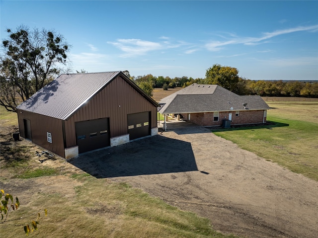
[[[271,39],[275,36],[289,34],[293,32],[298,31],[312,31],[315,32],[318,30],[318,25],[313,26],[299,26],[289,29],[282,29],[282,30],[276,30],[273,32],[265,32],[261,37],[238,37],[233,34],[230,34],[232,36],[232,39],[228,39],[226,41],[211,41],[207,44],[205,44],[206,49],[209,51],[220,51],[224,48],[224,46],[227,45],[235,45],[235,44],[243,44],[243,45],[257,45],[257,44],[264,44],[268,43],[268,39]],[[224,37],[226,38],[226,37]]]

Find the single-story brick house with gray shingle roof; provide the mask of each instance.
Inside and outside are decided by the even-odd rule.
[[[260,96],[240,96],[216,84],[197,83],[161,99],[159,105],[161,114],[179,114],[201,126],[266,123],[270,109]]]

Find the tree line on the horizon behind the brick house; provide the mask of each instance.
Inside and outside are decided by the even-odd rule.
[[[153,95],[154,88],[186,87],[193,83],[218,84],[239,95],[259,95],[275,97],[314,97],[318,98],[318,81],[298,80],[251,80],[240,78],[233,67],[214,65],[209,68],[204,79],[191,77],[155,77],[152,74],[130,77],[148,95]]]

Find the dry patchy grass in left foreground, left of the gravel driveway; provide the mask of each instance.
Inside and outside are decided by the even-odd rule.
[[[20,207],[0,224],[6,238],[26,237],[23,226],[37,218],[29,237],[59,238],[234,238],[212,229],[211,221],[181,211],[127,183],[95,178],[63,159],[41,163],[41,148],[15,142],[16,114],[1,108],[0,188],[17,196]],[[43,209],[48,216],[43,216]],[[15,226],[18,225],[18,226]]]

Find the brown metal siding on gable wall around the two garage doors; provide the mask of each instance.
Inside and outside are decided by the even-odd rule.
[[[151,128],[157,127],[157,107],[118,76],[66,121],[67,147],[76,146],[75,122],[109,117],[110,136],[116,137],[128,133],[128,114],[145,111],[151,112]]]

